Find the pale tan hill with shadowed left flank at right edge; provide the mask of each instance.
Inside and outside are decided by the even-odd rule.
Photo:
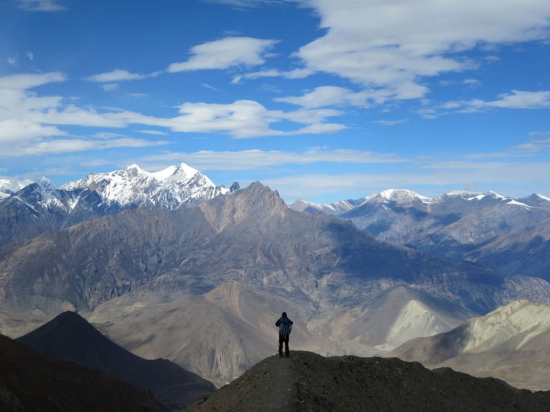
[[[449,332],[412,339],[388,356],[548,390],[549,339],[550,307],[520,300]]]

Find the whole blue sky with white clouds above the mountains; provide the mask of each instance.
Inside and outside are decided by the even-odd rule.
[[[0,0],[0,177],[550,196],[547,0]]]

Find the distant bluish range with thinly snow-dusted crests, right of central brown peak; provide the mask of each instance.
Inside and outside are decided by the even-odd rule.
[[[339,209],[342,203],[353,207]],[[410,190],[386,190],[357,201],[305,204],[298,200],[290,207],[351,220],[378,239],[478,262],[502,275],[550,280],[550,199],[540,194],[510,198],[456,191],[427,198]]]

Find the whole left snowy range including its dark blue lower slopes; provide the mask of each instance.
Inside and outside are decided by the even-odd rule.
[[[9,182],[8,182],[9,183]],[[238,190],[214,185],[208,177],[185,163],[160,172],[146,172],[137,165],[109,173],[92,173],[56,188],[45,178],[6,183],[0,203],[0,246],[38,236],[124,209],[179,209],[192,207],[218,195]],[[15,193],[8,193],[7,190]]]

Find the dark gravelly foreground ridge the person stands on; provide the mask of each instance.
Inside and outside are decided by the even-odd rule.
[[[550,392],[519,390],[398,358],[271,356],[186,412],[550,411]]]

